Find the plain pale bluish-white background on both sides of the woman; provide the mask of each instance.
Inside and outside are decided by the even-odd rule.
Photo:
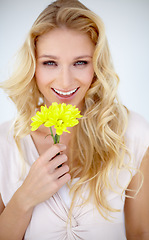
[[[103,19],[119,95],[130,110],[149,121],[149,0],[81,0]],[[0,81],[11,72],[14,54],[50,0],[0,0]],[[0,123],[15,115],[15,107],[0,90]]]

